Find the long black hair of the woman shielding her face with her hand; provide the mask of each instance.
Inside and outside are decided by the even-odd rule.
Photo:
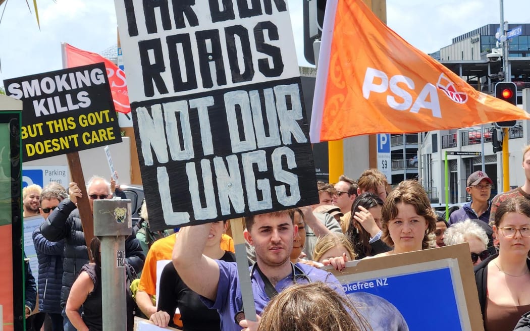
[[[354,246],[354,252],[360,258],[368,256],[372,253],[372,245],[370,245],[370,234],[366,231],[363,226],[354,218],[355,213],[360,211],[359,206],[363,206],[366,209],[383,205],[383,200],[372,192],[366,192],[355,199],[354,204],[351,205],[350,219],[347,220],[343,225],[346,237],[350,240],[352,246]],[[352,226],[353,225],[353,226]]]

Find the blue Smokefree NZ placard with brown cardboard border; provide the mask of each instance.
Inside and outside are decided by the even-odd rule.
[[[464,243],[352,261],[332,272],[374,330],[478,331],[484,328],[469,252]]]

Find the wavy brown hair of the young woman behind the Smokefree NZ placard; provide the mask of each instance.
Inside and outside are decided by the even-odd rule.
[[[421,248],[428,248],[430,244],[429,234],[436,230],[437,216],[434,210],[430,207],[427,193],[425,193],[421,184],[414,180],[401,182],[398,187],[388,194],[385,203],[383,203],[383,209],[381,210],[381,231],[383,232],[381,239],[388,246],[394,247],[394,241],[390,237],[390,231],[388,231],[388,222],[398,216],[399,203],[412,205],[419,216],[425,217],[428,227],[423,236]]]

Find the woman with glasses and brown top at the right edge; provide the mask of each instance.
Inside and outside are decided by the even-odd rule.
[[[485,331],[511,331],[530,311],[530,201],[501,202],[493,223],[499,253],[475,266],[475,281]]]

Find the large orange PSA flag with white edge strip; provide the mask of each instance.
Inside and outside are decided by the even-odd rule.
[[[412,47],[361,0],[328,0],[311,142],[530,119]]]

